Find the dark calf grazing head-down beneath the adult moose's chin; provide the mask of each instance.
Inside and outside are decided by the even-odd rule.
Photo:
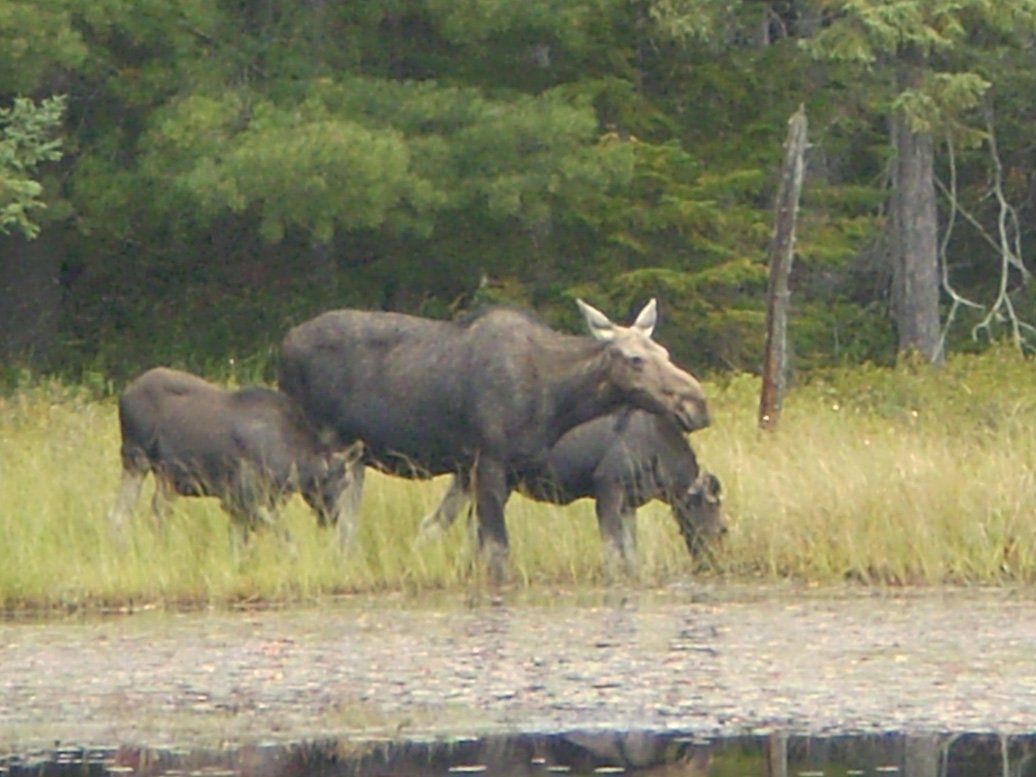
[[[620,564],[628,574],[636,573],[636,510],[652,499],[669,505],[693,556],[726,533],[719,480],[698,467],[693,449],[672,422],[642,410],[622,410],[577,426],[557,440],[545,462],[514,471],[510,480],[519,493],[538,501],[596,499],[609,573]],[[457,519],[469,488],[469,476],[454,476],[442,501],[422,521],[423,538]]]

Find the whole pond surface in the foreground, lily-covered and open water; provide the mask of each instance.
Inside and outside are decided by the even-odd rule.
[[[0,777],[1036,777],[1034,644],[999,589],[7,622]]]

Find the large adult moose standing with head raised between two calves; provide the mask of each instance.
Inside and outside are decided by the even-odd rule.
[[[339,447],[363,441],[365,460],[385,471],[473,468],[479,542],[500,580],[510,469],[542,460],[569,429],[624,404],[688,431],[709,424],[701,385],[651,339],[654,299],[629,327],[577,304],[594,338],[562,335],[503,308],[464,322],[324,313],[285,337],[280,385],[322,434]],[[354,493],[362,471],[356,467]],[[348,542],[355,502],[342,518]]]

